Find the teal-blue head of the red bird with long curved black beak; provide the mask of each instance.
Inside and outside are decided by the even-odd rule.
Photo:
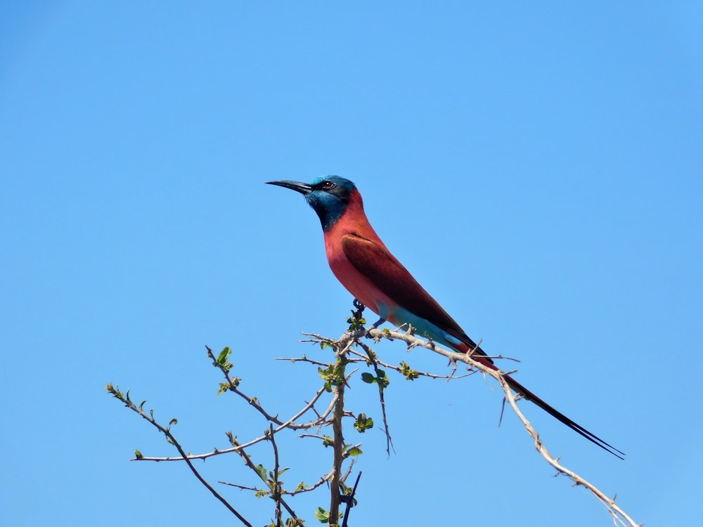
[[[321,176],[312,183],[299,181],[267,181],[266,183],[290,188],[304,195],[305,201],[320,217],[324,230],[333,226],[342,217],[356,190],[356,185],[352,181],[340,176]]]

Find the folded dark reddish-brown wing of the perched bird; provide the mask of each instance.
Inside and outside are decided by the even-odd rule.
[[[428,320],[463,341],[470,349],[477,346],[456,320],[425,291],[402,263],[383,245],[354,234],[342,236],[342,249],[352,265],[383,294],[411,313]],[[479,351],[478,349],[477,351]],[[479,351],[483,354],[483,351]]]

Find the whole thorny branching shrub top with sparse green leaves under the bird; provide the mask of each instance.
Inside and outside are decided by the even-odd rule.
[[[467,356],[462,353],[454,353],[453,351],[448,351],[446,349],[441,348],[440,346],[437,346],[437,344],[432,341],[428,342],[418,337],[415,337],[412,332],[412,328],[410,328],[410,331],[408,332],[401,332],[399,330],[390,331],[387,329],[372,329],[367,331],[363,327],[364,321],[361,318],[361,311],[359,310],[359,306],[356,306],[355,304],[355,307],[357,307],[356,319],[354,318],[354,315],[352,315],[352,319],[350,319],[350,321],[353,322],[352,325],[349,327],[349,332],[342,335],[340,339],[335,340],[330,339],[329,337],[322,337],[318,334],[304,333],[304,335],[306,335],[307,337],[311,337],[309,339],[305,339],[304,341],[313,341],[319,344],[323,344],[323,347],[330,346],[331,348],[333,348],[335,350],[335,363],[325,363],[311,358],[307,358],[307,356],[302,356],[301,358],[285,359],[290,360],[293,363],[300,361],[304,363],[311,363],[313,365],[317,365],[319,367],[319,370],[321,371],[321,376],[323,372],[326,372],[326,377],[323,376],[323,378],[327,379],[325,385],[322,386],[321,389],[318,389],[314,397],[311,398],[311,400],[307,402],[304,407],[299,410],[299,412],[290,417],[290,419],[286,419],[285,421],[279,419],[278,415],[271,415],[269,412],[266,412],[262,405],[259,404],[257,398],[247,396],[245,393],[243,393],[243,391],[240,391],[240,389],[238,388],[240,379],[237,379],[236,377],[231,377],[231,375],[229,375],[228,371],[229,367],[231,367],[231,364],[224,363],[221,360],[221,356],[220,358],[216,358],[214,356],[214,353],[212,353],[212,350],[207,348],[209,358],[213,360],[214,365],[219,367],[219,369],[224,374],[226,382],[220,384],[220,391],[232,391],[233,393],[236,393],[236,395],[238,395],[240,398],[243,398],[243,400],[247,401],[247,403],[250,404],[252,408],[254,408],[254,410],[259,412],[261,415],[264,416],[265,419],[269,421],[269,429],[266,430],[263,436],[254,438],[246,443],[239,443],[236,438],[234,438],[233,434],[231,432],[228,432],[227,436],[232,445],[231,448],[226,448],[222,450],[216,448],[212,452],[195,455],[186,454],[185,450],[183,450],[181,445],[176,441],[176,438],[174,438],[173,434],[170,431],[171,425],[176,423],[175,419],[173,419],[172,422],[169,423],[168,427],[162,426],[161,424],[155,421],[153,417],[153,412],[144,412],[144,403],[141,403],[141,405],[137,406],[129,399],[129,391],[126,395],[123,395],[120,390],[117,389],[116,386],[108,384],[108,391],[112,393],[115,398],[118,398],[128,408],[141,415],[141,417],[143,417],[148,422],[150,422],[150,424],[153,424],[154,427],[159,429],[162,434],[165,434],[168,441],[176,447],[176,450],[178,450],[180,454],[179,457],[146,457],[141,455],[141,453],[137,453],[137,456],[136,458],[134,458],[134,460],[155,462],[185,461],[186,464],[188,464],[188,467],[193,472],[193,474],[195,474],[198,480],[203,484],[203,486],[205,486],[215,497],[217,497],[219,501],[221,501],[231,512],[233,512],[233,514],[235,514],[245,526],[250,526],[251,523],[244,519],[243,516],[241,516],[241,514],[236,511],[236,509],[229,505],[229,503],[224,499],[224,497],[219,495],[219,493],[217,493],[217,491],[214,490],[214,488],[212,488],[212,486],[210,486],[207,481],[202,478],[202,476],[198,473],[198,470],[193,467],[192,463],[193,460],[205,460],[207,459],[207,457],[236,452],[243,458],[243,460],[245,460],[245,464],[247,464],[250,469],[256,472],[262,479],[262,481],[264,481],[264,483],[266,484],[266,489],[258,489],[255,487],[238,485],[236,483],[226,483],[224,481],[220,481],[219,483],[223,483],[228,486],[236,486],[238,488],[243,488],[247,490],[254,490],[255,492],[257,492],[257,494],[261,495],[269,495],[276,502],[276,526],[283,525],[281,507],[285,508],[291,516],[291,519],[289,520],[290,523],[286,523],[286,525],[302,525],[302,520],[299,520],[297,518],[295,512],[283,499],[284,495],[294,496],[299,493],[309,492],[311,490],[315,490],[316,488],[323,486],[323,484],[325,483],[328,483],[328,485],[330,486],[331,495],[328,523],[330,524],[330,526],[338,525],[339,519],[341,518],[340,505],[342,504],[342,502],[345,502],[347,503],[347,511],[346,514],[344,514],[344,521],[342,525],[346,526],[347,520],[349,518],[349,509],[352,507],[352,505],[354,505],[354,494],[356,493],[356,486],[359,483],[359,478],[357,478],[354,488],[349,488],[344,484],[344,481],[347,480],[347,477],[352,471],[352,467],[354,466],[354,459],[351,460],[346,471],[344,471],[344,474],[342,474],[342,464],[344,460],[349,458],[350,455],[354,455],[351,453],[352,450],[358,449],[359,447],[359,445],[354,445],[353,447],[349,448],[349,445],[344,444],[342,419],[344,417],[354,417],[352,412],[344,410],[344,389],[347,386],[350,377],[354,375],[355,371],[354,370],[352,371],[352,373],[347,374],[347,365],[353,363],[366,363],[366,365],[373,367],[375,371],[376,377],[374,377],[374,382],[379,382],[378,389],[380,405],[383,415],[383,422],[385,425],[385,434],[387,437],[387,450],[392,448],[392,441],[390,438],[388,423],[385,415],[385,399],[383,397],[383,389],[385,388],[385,384],[382,384],[382,382],[380,382],[382,379],[385,379],[385,373],[380,370],[380,367],[383,367],[387,370],[394,370],[396,372],[399,372],[401,375],[404,375],[406,379],[410,380],[416,379],[418,377],[430,377],[446,379],[447,381],[449,381],[451,379],[458,379],[460,377],[466,377],[467,375],[473,375],[476,372],[481,372],[484,375],[489,375],[490,377],[493,377],[494,379],[496,379],[496,382],[501,385],[501,388],[505,393],[505,400],[508,401],[510,408],[512,408],[517,417],[522,421],[522,424],[524,425],[525,429],[533,438],[536,450],[538,450],[538,452],[544,457],[548,464],[550,464],[550,466],[557,471],[558,474],[563,474],[567,476],[569,479],[572,479],[572,481],[574,481],[574,485],[583,486],[584,488],[587,488],[591,493],[593,493],[593,495],[595,495],[595,497],[600,500],[603,505],[605,505],[608,512],[612,516],[615,525],[624,527],[640,527],[638,523],[633,521],[633,519],[631,519],[631,517],[628,516],[628,514],[626,514],[626,512],[624,512],[617,505],[614,498],[611,499],[610,497],[607,497],[604,493],[602,493],[600,489],[595,487],[593,483],[586,481],[586,479],[583,479],[574,471],[568,469],[567,467],[564,467],[562,464],[560,464],[557,458],[555,458],[549,453],[546,446],[542,443],[541,439],[539,438],[534,427],[532,427],[531,423],[528,421],[528,419],[524,416],[524,414],[518,407],[517,398],[515,394],[512,393],[507,382],[505,382],[504,376],[508,375],[508,373],[510,372],[503,372],[501,370],[491,370],[490,368],[485,367],[481,363],[478,363],[477,361],[473,360],[470,356]],[[434,353],[438,353],[439,355],[449,359],[450,364],[452,366],[451,373],[449,375],[437,375],[430,372],[418,372],[412,370],[409,365],[402,362],[399,366],[385,363],[380,360],[380,358],[378,358],[378,356],[370,348],[370,346],[361,341],[363,337],[371,337],[375,340],[375,342],[378,342],[381,339],[401,340],[408,345],[408,351],[418,346],[430,349],[431,351],[434,351]],[[361,353],[361,351],[356,351],[355,349],[353,349],[354,346],[359,346],[361,349],[363,349],[363,353]],[[457,363],[465,363],[470,367],[469,371],[463,375],[455,375],[457,371]],[[367,373],[363,375],[370,374]],[[318,403],[324,393],[329,392],[332,393],[332,396],[330,397],[328,407],[324,411],[318,412],[318,410],[316,409],[316,403]],[[307,422],[298,422],[298,420],[301,419],[305,414],[307,414],[307,412],[314,412],[315,418]],[[359,419],[361,419],[361,415]],[[284,429],[305,431],[311,429],[321,429],[325,426],[331,426],[333,428],[334,438],[321,436],[319,433],[304,433],[300,434],[299,437],[316,437],[318,439],[321,439],[323,441],[323,444],[328,443],[328,445],[333,446],[332,469],[328,474],[324,474],[323,476],[321,476],[321,478],[312,486],[303,486],[301,483],[300,486],[295,490],[285,490],[278,479],[281,469],[278,459],[278,447],[276,445],[275,439],[276,434],[278,434]],[[370,423],[370,426],[373,426],[373,423]],[[254,465],[250,456],[245,452],[245,449],[249,446],[254,445],[256,443],[260,443],[262,441],[271,441],[273,447],[273,454],[275,457],[274,469],[273,471],[268,473],[269,477],[267,477],[266,469],[264,469],[262,465]],[[359,473],[359,476],[360,475],[361,473]],[[343,490],[343,496],[340,495],[340,490]]]

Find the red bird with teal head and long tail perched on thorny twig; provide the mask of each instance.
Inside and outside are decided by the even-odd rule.
[[[386,321],[396,327],[411,325],[415,334],[425,335],[458,353],[468,353],[482,365],[498,370],[491,357],[468,337],[381,241],[363,211],[361,193],[352,181],[340,176],[321,176],[311,183],[288,180],[266,183],[304,195],[322,224],[332,272],[356,300],[380,317],[372,327]],[[511,375],[504,375],[503,379],[522,398],[591,443],[624,459],[623,452],[556,410]]]

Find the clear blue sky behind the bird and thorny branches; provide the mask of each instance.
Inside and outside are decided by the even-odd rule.
[[[699,2],[4,2],[0,8],[0,523],[231,516],[104,392],[188,450],[259,434],[204,344],[289,415],[351,307],[299,195],[340,174],[387,245],[518,378],[550,450],[648,526],[703,523],[703,8]],[[400,344],[387,360],[445,371]],[[317,356],[317,355],[316,355]],[[379,421],[373,391],[352,408]],[[352,525],[612,525],[479,377],[392,379]],[[328,469],[291,439],[286,481]],[[270,462],[269,450],[252,452]],[[326,454],[326,453],[325,453]],[[202,465],[254,483],[234,457]],[[269,502],[223,489],[255,525]],[[297,502],[312,511],[321,495]]]

